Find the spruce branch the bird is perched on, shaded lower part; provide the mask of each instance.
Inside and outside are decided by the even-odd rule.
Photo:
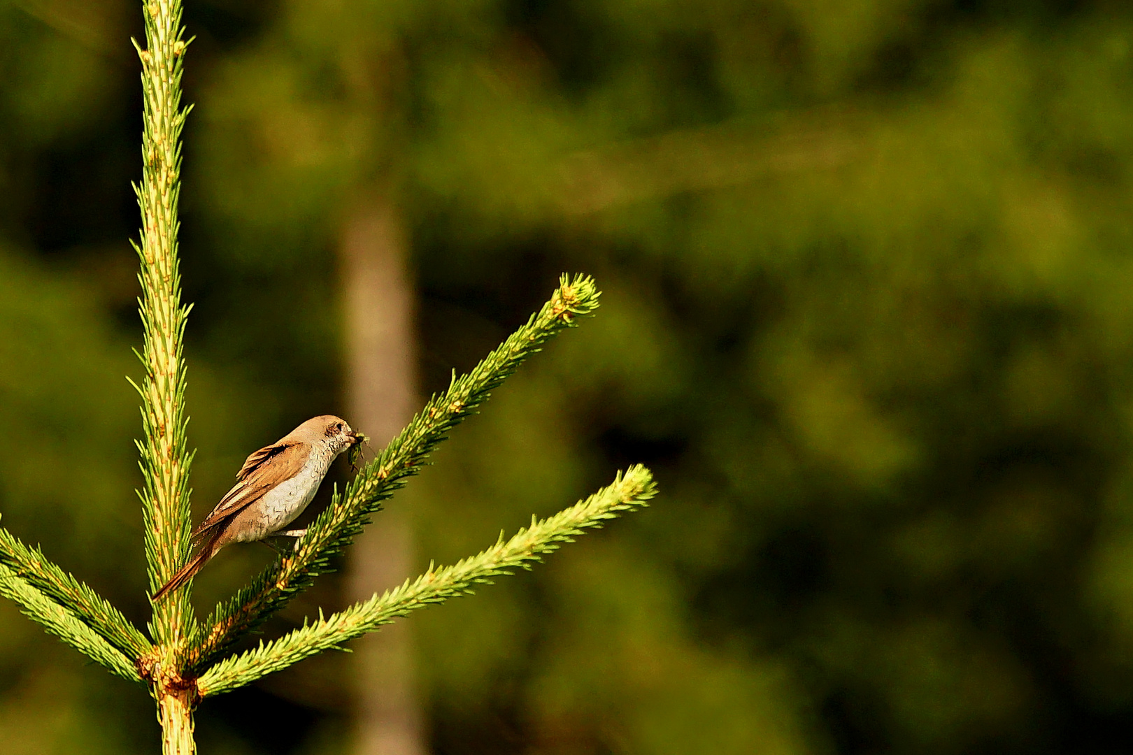
[[[594,278],[563,275],[551,300],[489,353],[470,372],[453,378],[449,389],[434,395],[398,437],[355,478],[346,491],[335,491],[331,505],[307,529],[295,551],[278,559],[230,601],[218,606],[201,634],[185,650],[185,666],[203,668],[241,636],[282,608],[315,577],[332,570],[331,558],[341,552],[369,523],[382,501],[417,474],[429,452],[465,418],[476,413],[500,384],[525,359],[577,318],[598,307]]]

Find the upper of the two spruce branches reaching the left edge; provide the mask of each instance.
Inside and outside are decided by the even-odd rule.
[[[39,548],[25,546],[3,527],[0,527],[0,565],[74,614],[131,661],[151,651],[150,641],[121,611],[48,560]]]

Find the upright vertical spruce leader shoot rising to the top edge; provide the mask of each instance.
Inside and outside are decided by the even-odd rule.
[[[144,129],[142,185],[135,185],[142,211],[138,307],[144,326],[139,359],[142,385],[143,489],[145,551],[150,589],[155,591],[180,567],[189,548],[188,475],[191,454],[186,444],[185,360],[181,342],[189,307],[181,304],[177,220],[180,195],[182,41],[180,0],[143,5],[146,48],[134,46],[142,60]],[[162,646],[179,644],[190,633],[191,609],[184,592],[154,606],[153,635]]]

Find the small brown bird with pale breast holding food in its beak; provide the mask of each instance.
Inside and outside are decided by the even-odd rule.
[[[307,508],[331,462],[365,437],[346,420],[322,414],[248,456],[236,473],[236,486],[193,531],[191,542],[201,549],[154,593],[153,601],[191,580],[229,543],[303,537],[306,530],[283,527]]]

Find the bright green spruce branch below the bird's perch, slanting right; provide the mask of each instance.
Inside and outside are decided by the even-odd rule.
[[[501,534],[493,547],[476,556],[453,566],[431,568],[412,582],[406,581],[329,618],[320,612],[313,624],[304,624],[279,640],[216,663],[197,679],[197,689],[205,697],[236,689],[324,650],[340,647],[418,608],[470,594],[474,585],[489,583],[492,577],[511,574],[516,568],[530,568],[543,555],[571,542],[587,529],[600,527],[605,520],[623,511],[648,505],[655,491],[649,470],[631,466],[586,500],[546,520],[533,517],[529,527],[506,542]]]

